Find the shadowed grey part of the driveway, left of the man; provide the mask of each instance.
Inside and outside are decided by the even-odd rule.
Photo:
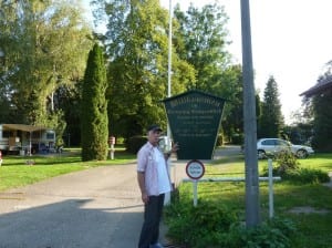
[[[142,205],[87,208],[92,200],[66,199],[31,208],[18,202],[15,211],[0,215],[0,248],[136,247]]]

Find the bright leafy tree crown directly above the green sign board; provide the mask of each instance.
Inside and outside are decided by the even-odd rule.
[[[222,72],[231,58],[227,52],[228,18],[224,7],[214,3],[198,9],[191,3],[183,12],[177,4],[174,16],[180,24],[176,32],[179,55],[196,70],[196,81],[188,87],[215,93],[225,83]]]

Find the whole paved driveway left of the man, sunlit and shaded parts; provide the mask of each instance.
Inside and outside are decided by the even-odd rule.
[[[0,194],[1,248],[134,248],[135,165],[96,167]]]

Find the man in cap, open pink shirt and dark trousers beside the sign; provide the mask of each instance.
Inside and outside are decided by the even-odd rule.
[[[172,152],[163,154],[158,147],[162,128],[152,125],[147,128],[147,143],[137,154],[137,180],[144,203],[144,223],[141,231],[138,248],[163,248],[158,244],[159,223],[162,218],[165,193],[172,190],[167,169],[167,159]]]

